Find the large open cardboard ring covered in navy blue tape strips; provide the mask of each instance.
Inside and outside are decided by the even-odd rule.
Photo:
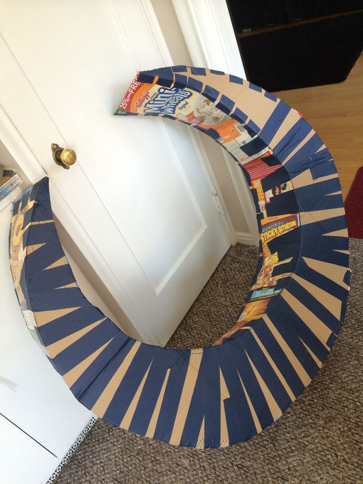
[[[206,348],[171,350],[125,335],[78,288],[45,178],[14,204],[11,224],[27,325],[75,398],[113,425],[177,446],[250,439],[309,384],[344,319],[348,234],[334,162],[301,114],[218,71],[139,73],[116,114],[182,121],[237,161],[260,233],[247,302]]]

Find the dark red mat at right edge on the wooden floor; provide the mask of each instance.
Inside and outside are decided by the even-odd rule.
[[[363,166],[356,173],[344,207],[349,237],[363,239]]]

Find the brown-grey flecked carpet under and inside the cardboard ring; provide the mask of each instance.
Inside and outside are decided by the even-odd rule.
[[[224,449],[173,447],[98,420],[56,484],[363,483],[363,240],[351,239],[346,320],[323,369],[280,420]],[[247,296],[257,249],[231,247],[170,347],[213,342]]]

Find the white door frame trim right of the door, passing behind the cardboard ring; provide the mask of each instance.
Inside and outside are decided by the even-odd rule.
[[[246,79],[225,0],[172,0],[172,2],[194,66],[216,69]],[[224,149],[220,148],[220,151],[237,191],[254,245],[258,246],[258,227],[249,186],[231,156]]]

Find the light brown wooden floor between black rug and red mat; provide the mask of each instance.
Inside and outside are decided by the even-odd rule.
[[[345,199],[363,165],[363,54],[344,82],[274,94],[301,112],[327,145]]]

